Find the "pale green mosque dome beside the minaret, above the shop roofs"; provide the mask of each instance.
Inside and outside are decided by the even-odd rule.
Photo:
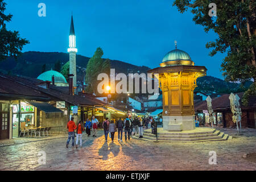
[[[42,73],[38,76],[38,79],[43,81],[52,81],[52,76],[54,76],[54,81],[56,83],[67,83],[66,78],[61,73],[53,70]]]

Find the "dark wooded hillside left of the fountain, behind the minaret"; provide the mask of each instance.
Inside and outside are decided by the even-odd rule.
[[[81,68],[85,68],[90,57],[77,55],[77,78],[82,80]],[[0,62],[0,71],[7,73],[11,71],[13,74],[23,75],[28,77],[36,78],[42,72],[42,65],[46,64],[46,71],[54,68],[56,61],[60,60],[61,65],[64,65],[69,60],[69,54],[63,52],[24,52],[15,61],[13,57],[9,57],[6,60]],[[150,68],[148,67],[138,67],[133,64],[125,63],[118,60],[110,60],[111,68],[115,68],[117,73],[127,73],[127,72],[144,72]]]

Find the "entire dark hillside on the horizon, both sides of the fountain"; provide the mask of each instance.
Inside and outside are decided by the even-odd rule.
[[[90,57],[77,55],[77,80],[82,81],[82,68],[85,68]],[[19,56],[18,60],[13,57],[0,62],[0,72],[11,72],[15,75],[23,75],[36,78],[42,72],[42,65],[46,64],[46,70],[54,68],[54,64],[60,60],[61,65],[64,65],[69,60],[69,54],[63,52],[24,52]],[[148,67],[138,67],[133,64],[125,63],[118,60],[110,60],[111,68],[115,68],[116,73],[146,73]],[[246,88],[251,84],[248,82]],[[240,84],[234,82],[226,82],[216,77],[204,76],[197,79],[197,87],[195,91],[205,93],[230,93],[243,92],[245,89],[240,88]]]

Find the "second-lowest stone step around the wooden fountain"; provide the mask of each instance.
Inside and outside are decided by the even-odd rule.
[[[174,134],[171,134],[171,135],[164,135],[162,133],[159,133],[158,134],[158,137],[159,138],[198,138],[198,137],[213,137],[213,136],[217,136],[218,134],[220,134],[220,131],[219,130],[215,130],[214,133],[200,133],[200,134],[194,134],[194,135],[191,135],[191,134],[188,134],[188,135],[174,135]],[[152,133],[143,133],[144,136],[147,136],[147,137],[155,137],[155,134],[152,134]]]

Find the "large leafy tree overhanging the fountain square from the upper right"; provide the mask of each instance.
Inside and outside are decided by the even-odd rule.
[[[209,16],[210,3],[217,6],[217,16]],[[193,21],[204,26],[205,32],[213,30],[217,33],[218,39],[215,42],[208,42],[210,56],[217,52],[227,52],[222,61],[221,67],[226,81],[246,81],[253,78],[254,82],[245,96],[256,95],[252,92],[256,82],[256,2],[254,0],[175,0],[173,6],[177,6],[180,13],[191,8]],[[243,104],[246,104],[243,99]]]

